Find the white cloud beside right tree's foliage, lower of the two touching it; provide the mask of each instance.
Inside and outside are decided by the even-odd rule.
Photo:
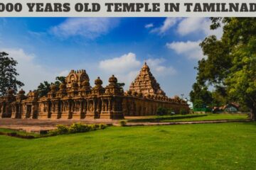
[[[201,40],[198,41],[187,41],[187,42],[171,42],[166,43],[166,47],[174,50],[178,55],[185,55],[188,59],[201,60],[203,56],[203,51],[199,46]]]

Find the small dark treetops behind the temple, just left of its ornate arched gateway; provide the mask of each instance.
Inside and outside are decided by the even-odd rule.
[[[60,86],[61,83],[65,83],[65,77],[56,77],[55,78],[55,82],[54,83],[49,83],[48,81],[43,81],[43,83],[41,83],[38,86],[38,96],[39,97],[43,97],[46,96],[48,94],[48,92],[50,91],[50,86],[55,84],[55,86]]]

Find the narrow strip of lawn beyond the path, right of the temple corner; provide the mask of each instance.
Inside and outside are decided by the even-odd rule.
[[[207,113],[207,114],[188,114],[188,115],[153,115],[148,118],[132,119],[127,122],[184,122],[201,120],[246,120],[247,114],[229,114],[229,113]]]

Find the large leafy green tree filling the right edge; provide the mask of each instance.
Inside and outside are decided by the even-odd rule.
[[[222,89],[230,101],[250,108],[256,120],[256,18],[211,20],[211,29],[223,25],[223,36],[201,42],[207,58],[198,62],[197,83]]]

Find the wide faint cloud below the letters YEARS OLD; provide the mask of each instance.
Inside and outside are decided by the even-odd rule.
[[[93,40],[105,35],[117,26],[116,18],[68,18],[58,26],[50,29],[50,33],[61,38],[82,36]]]

